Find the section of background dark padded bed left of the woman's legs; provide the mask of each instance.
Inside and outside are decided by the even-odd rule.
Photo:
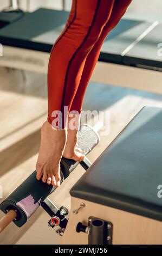
[[[50,52],[68,17],[69,11],[45,8],[25,13],[21,20],[0,29],[0,42],[3,45]]]

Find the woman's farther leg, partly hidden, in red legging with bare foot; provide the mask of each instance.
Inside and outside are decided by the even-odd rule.
[[[103,28],[100,38],[95,43],[94,47],[92,48],[92,50],[87,56],[86,63],[82,72],[80,84],[74,96],[70,111],[77,111],[81,113],[83,98],[85,96],[90,77],[92,76],[95,65],[98,62],[98,58],[100,55],[100,50],[103,45],[103,42],[107,34],[112,31],[112,29],[120,21],[121,17],[125,14],[127,7],[131,3],[131,1],[132,0],[122,0],[122,1],[115,0],[111,17],[106,23],[106,26]],[[78,120],[80,120],[80,117],[78,117]],[[77,135],[78,135],[77,133],[78,133],[77,129],[68,130],[66,148],[64,149],[64,153],[63,153],[64,157],[75,159],[75,155],[80,154],[80,153],[76,153],[76,150],[75,150],[75,148],[77,147],[76,146]]]

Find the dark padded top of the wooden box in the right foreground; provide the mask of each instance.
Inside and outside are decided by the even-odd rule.
[[[162,221],[161,184],[162,108],[147,106],[103,151],[70,194]]]

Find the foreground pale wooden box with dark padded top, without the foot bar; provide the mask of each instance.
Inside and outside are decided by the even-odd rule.
[[[142,108],[76,182],[62,245],[162,244],[161,126]]]

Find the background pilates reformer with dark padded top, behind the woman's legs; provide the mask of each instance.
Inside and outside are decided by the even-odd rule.
[[[49,53],[68,16],[68,11],[40,8],[2,27],[0,65],[47,73]],[[92,81],[162,93],[161,27],[158,21],[121,19],[101,48]]]

